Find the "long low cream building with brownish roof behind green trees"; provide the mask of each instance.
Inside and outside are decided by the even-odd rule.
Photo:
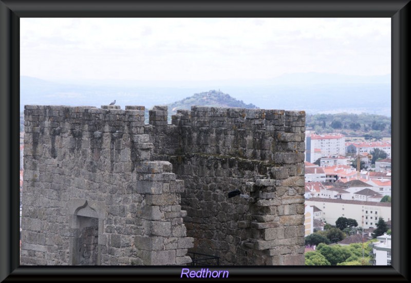
[[[390,202],[371,202],[344,199],[310,198],[305,204],[314,205],[323,212],[323,219],[331,225],[339,217],[356,219],[359,226],[364,229],[376,228],[379,217],[384,221],[391,220]]]

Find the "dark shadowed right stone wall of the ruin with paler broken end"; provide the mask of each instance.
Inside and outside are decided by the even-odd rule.
[[[304,265],[304,111],[192,107],[172,123],[190,251],[223,265]],[[228,198],[236,189],[245,197]]]

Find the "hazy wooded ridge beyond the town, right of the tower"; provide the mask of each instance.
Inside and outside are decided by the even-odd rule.
[[[317,134],[339,132],[352,137],[361,135],[366,139],[391,136],[391,118],[375,114],[307,114],[306,127]]]

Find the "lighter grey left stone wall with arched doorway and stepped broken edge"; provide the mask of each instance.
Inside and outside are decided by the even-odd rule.
[[[103,108],[25,107],[22,265],[191,262],[184,183],[150,161],[144,109]]]

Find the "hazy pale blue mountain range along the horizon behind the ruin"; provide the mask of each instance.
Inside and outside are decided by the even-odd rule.
[[[125,105],[169,105],[190,109],[194,104],[220,107],[258,105],[265,109],[305,110],[307,114],[368,113],[391,116],[390,76],[344,76],[327,73],[283,74],[272,79],[241,81],[74,81],[54,82],[21,76],[20,110],[26,104],[89,105],[100,107],[113,100]],[[214,103],[212,97],[196,98],[193,93],[222,89],[232,97],[252,102],[229,103],[223,97]],[[218,91],[211,91],[216,93]],[[204,96],[202,96],[204,97]],[[193,99],[193,101],[186,101]],[[176,102],[177,101],[177,102]],[[251,106],[251,107],[250,107]]]

